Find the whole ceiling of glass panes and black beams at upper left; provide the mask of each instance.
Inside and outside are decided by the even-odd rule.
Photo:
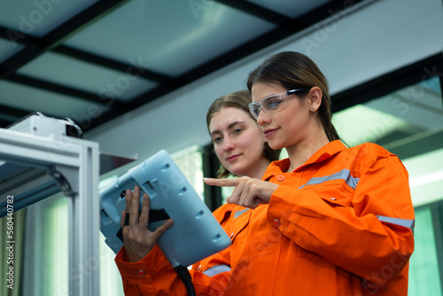
[[[93,129],[314,26],[343,5],[0,0],[0,127],[40,111]]]

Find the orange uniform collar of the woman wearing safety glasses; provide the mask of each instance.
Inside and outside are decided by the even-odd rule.
[[[317,152],[315,152],[302,166],[295,169],[295,171],[300,171],[303,167],[307,165],[321,162],[323,160],[328,160],[332,155],[337,154],[346,149],[346,146],[340,142],[340,140],[332,141],[328,144],[325,144],[322,148],[320,148]],[[289,159],[284,160],[276,160],[271,162],[268,166],[265,174],[263,175],[263,180],[268,180],[272,175],[281,174],[288,170],[291,162]]]

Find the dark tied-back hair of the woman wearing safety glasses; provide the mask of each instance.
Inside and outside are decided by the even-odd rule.
[[[255,82],[278,83],[286,90],[319,87],[323,95],[318,114],[324,132],[330,141],[339,139],[337,130],[331,121],[328,81],[311,58],[295,51],[277,53],[267,58],[249,74],[247,87],[250,91]]]

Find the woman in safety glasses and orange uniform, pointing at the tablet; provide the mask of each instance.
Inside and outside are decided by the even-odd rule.
[[[326,79],[300,53],[268,58],[247,84],[269,146],[289,158],[262,180],[205,181],[236,186],[229,203],[253,209],[231,257],[245,262],[232,267],[242,280],[225,294],[408,295],[414,209],[400,160],[377,144],[338,140]]]

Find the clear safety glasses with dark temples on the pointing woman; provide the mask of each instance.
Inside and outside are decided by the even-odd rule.
[[[282,92],[281,94],[273,94],[268,97],[263,97],[260,102],[249,104],[249,111],[253,114],[253,118],[257,120],[259,118],[260,111],[263,110],[264,113],[268,115],[275,114],[281,110],[283,110],[285,103],[288,100],[289,95],[301,93],[303,91],[310,89],[297,89],[297,90],[288,90]]]

